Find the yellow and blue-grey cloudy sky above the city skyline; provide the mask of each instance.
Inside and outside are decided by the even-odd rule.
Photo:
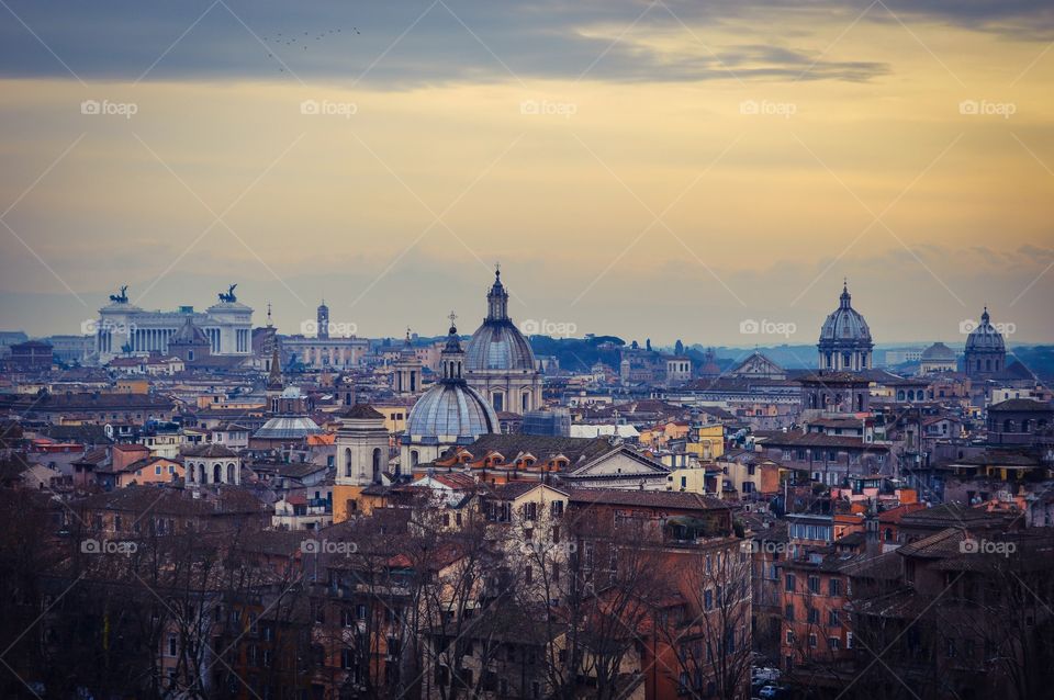
[[[1054,342],[1054,5],[0,0],[0,329]],[[753,323],[752,323],[753,321]]]

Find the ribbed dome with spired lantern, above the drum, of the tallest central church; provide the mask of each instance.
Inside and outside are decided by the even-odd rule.
[[[500,370],[534,372],[535,353],[530,343],[508,317],[508,292],[502,285],[502,273],[494,273],[494,285],[486,295],[487,315],[472,334],[464,352],[469,372]]]

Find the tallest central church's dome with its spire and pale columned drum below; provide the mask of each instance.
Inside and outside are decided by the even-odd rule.
[[[495,411],[524,414],[541,407],[541,373],[524,334],[508,317],[508,292],[501,270],[486,295],[486,318],[464,352],[469,386],[486,397]]]

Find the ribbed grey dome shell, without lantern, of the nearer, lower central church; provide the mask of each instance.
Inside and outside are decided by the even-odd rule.
[[[406,437],[414,442],[472,442],[498,432],[497,415],[464,382],[437,382],[410,411]]]

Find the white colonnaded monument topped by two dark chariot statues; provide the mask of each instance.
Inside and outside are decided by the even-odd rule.
[[[182,306],[175,312],[148,312],[128,301],[127,287],[110,295],[99,309],[94,353],[100,364],[125,352],[168,352],[169,342],[190,316],[209,339],[210,353],[248,358],[253,352],[253,309],[237,301],[234,287],[204,312]]]

